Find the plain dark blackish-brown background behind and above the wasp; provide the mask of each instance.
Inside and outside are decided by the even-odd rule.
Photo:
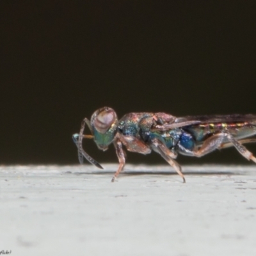
[[[120,117],[256,113],[255,3],[1,1],[0,163],[78,163],[71,136],[102,106]],[[117,163],[113,147],[84,148]],[[247,163],[234,148],[179,162]]]

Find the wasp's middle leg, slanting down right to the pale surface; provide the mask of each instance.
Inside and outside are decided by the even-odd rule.
[[[157,153],[159,153],[163,157],[163,159],[168,164],[170,164],[170,166],[172,166],[175,169],[175,171],[180,175],[180,177],[182,177],[183,183],[186,183],[186,179],[182,173],[181,166],[173,159],[176,158],[177,155],[171,152],[168,147],[166,147],[161,141],[157,139],[152,140],[152,146],[153,149]]]

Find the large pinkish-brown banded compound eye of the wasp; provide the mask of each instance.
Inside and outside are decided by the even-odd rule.
[[[102,108],[92,115],[92,125],[100,133],[105,133],[116,122],[116,113],[111,108]]]

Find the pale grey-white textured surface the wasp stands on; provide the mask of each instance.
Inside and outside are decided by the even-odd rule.
[[[103,166],[0,166],[0,251],[256,255],[254,165]]]

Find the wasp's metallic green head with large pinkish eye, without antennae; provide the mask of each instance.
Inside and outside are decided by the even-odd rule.
[[[117,128],[117,116],[114,109],[104,107],[96,110],[91,118],[94,141],[98,148],[107,150],[115,138]]]

